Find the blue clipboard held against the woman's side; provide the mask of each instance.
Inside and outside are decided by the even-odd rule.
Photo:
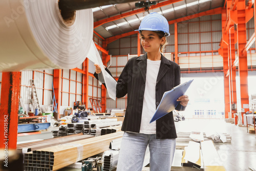
[[[177,99],[180,96],[185,94],[185,92],[187,91],[188,87],[190,86],[193,80],[194,79],[184,82],[179,86],[176,86],[172,90],[164,92],[162,100],[159,103],[157,110],[154,116],[152,117],[150,123],[172,112],[176,108],[176,106],[180,103],[179,101],[177,101]]]

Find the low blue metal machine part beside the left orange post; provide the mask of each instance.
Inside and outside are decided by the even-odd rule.
[[[18,124],[18,133],[47,130],[50,125],[50,122]]]

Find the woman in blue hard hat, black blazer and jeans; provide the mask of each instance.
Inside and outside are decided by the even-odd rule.
[[[169,25],[164,16],[156,12],[148,14],[137,31],[146,54],[128,60],[116,87],[117,98],[127,94],[117,170],[142,170],[148,145],[150,170],[169,171],[177,138],[173,113],[152,123],[150,120],[164,92],[180,84],[180,67],[161,54],[169,36]],[[101,70],[99,65],[95,64],[95,67],[94,75],[98,79]],[[184,110],[188,100],[186,95],[179,97],[176,110]]]

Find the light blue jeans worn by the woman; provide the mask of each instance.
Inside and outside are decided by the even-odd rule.
[[[146,147],[150,148],[150,170],[170,171],[172,166],[175,139],[156,139],[156,134],[123,134],[117,171],[141,171]]]

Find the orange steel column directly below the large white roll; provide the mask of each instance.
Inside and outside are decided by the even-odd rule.
[[[60,91],[61,91],[61,71],[62,70],[53,70],[53,87],[54,87],[54,94],[55,94],[55,99],[56,99],[56,103],[57,103],[57,110],[58,113],[60,112],[60,103],[61,103],[61,99],[60,99]],[[58,114],[59,117],[60,113]]]

